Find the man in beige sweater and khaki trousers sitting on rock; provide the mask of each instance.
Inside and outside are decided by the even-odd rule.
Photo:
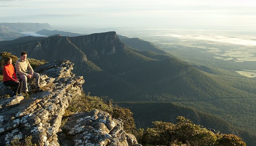
[[[27,59],[27,52],[23,51],[20,54],[20,59],[15,63],[16,73],[19,78],[22,80],[22,91],[28,92],[28,79],[35,79],[35,92],[42,92],[43,90],[39,87],[39,77],[40,75],[34,72],[33,68],[30,66],[30,63]]]

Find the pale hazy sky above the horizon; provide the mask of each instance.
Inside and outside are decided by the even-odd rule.
[[[256,0],[0,0],[0,22],[256,29]]]

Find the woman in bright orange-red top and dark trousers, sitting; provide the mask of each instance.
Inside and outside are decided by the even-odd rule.
[[[11,57],[7,57],[6,59],[4,59],[4,63],[2,65],[2,70],[3,70],[4,85],[9,86],[9,87],[15,87],[13,97],[16,97],[17,93],[19,94],[18,96],[23,96],[21,94],[21,90],[22,90],[21,82],[22,81],[19,80],[16,76],[16,73],[15,73],[13,65],[12,65]]]

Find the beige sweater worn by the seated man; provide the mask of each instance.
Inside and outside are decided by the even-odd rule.
[[[16,73],[19,75],[27,76],[29,72],[30,74],[34,72],[33,68],[30,66],[30,63],[28,62],[28,59],[24,61],[22,59],[17,60],[15,63],[15,68],[16,68]]]

